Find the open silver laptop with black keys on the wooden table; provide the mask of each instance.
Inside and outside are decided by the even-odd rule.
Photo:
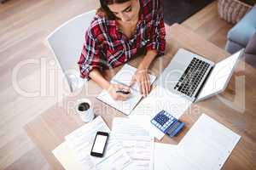
[[[243,51],[242,49],[215,64],[180,48],[156,83],[192,102],[209,98],[227,87]]]

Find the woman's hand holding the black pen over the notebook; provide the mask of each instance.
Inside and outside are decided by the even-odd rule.
[[[127,94],[121,93],[122,92],[128,92]],[[130,88],[125,87],[123,85],[120,84],[110,84],[109,88],[108,88],[108,93],[111,95],[111,97],[114,100],[126,100],[129,98],[131,91]]]

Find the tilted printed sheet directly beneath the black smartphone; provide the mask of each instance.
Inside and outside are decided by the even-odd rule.
[[[130,157],[113,135],[109,136],[105,155],[102,158],[90,156],[97,131],[110,132],[101,116],[97,116],[93,122],[79,127],[65,137],[69,148],[74,151],[83,169],[123,169],[129,165]]]

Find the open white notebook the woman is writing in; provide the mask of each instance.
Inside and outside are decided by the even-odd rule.
[[[111,82],[116,84],[122,84],[129,86],[131,82],[131,77],[137,69],[131,65],[125,64],[122,69],[112,78]],[[151,84],[154,82],[156,77],[149,75]],[[140,94],[140,89],[137,82],[131,86],[131,96],[125,101],[116,101],[109,94],[107,90],[102,90],[102,93],[99,94],[96,98],[102,102],[112,106],[118,111],[123,112],[125,115],[129,115],[137,103],[142,99],[143,95]]]

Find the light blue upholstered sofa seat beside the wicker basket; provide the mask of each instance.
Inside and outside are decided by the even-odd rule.
[[[234,54],[247,46],[247,42],[256,32],[256,5],[230,29],[227,36],[226,50]]]

